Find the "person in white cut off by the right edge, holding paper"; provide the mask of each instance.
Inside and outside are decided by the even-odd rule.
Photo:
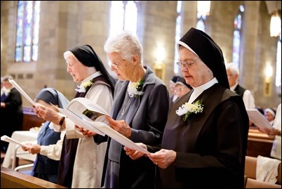
[[[274,119],[273,128],[261,131],[267,133],[269,136],[275,137],[270,152],[270,156],[281,160],[281,103],[276,110],[276,117]]]

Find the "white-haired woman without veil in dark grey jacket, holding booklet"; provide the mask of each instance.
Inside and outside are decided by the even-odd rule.
[[[114,92],[109,126],[134,142],[159,145],[169,110],[166,84],[142,63],[139,39],[123,31],[105,43],[111,70],[119,77]],[[88,132],[86,131],[85,134]],[[89,135],[95,134],[89,132]],[[107,141],[108,139],[108,141]],[[155,165],[146,157],[133,161],[123,145],[113,138],[96,135],[95,141],[108,142],[104,188],[154,188]]]

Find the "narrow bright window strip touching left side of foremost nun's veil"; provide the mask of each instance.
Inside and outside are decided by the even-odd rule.
[[[174,56],[174,65],[173,65],[173,71],[175,74],[179,72],[179,67],[176,65],[176,63],[179,61],[176,42],[179,41],[180,39],[180,32],[182,27],[181,10],[182,10],[182,1],[177,1],[177,18],[176,18],[176,27],[175,27],[175,56]]]

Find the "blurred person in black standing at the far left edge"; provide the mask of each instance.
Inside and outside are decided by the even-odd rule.
[[[23,113],[22,113],[22,96],[15,87],[10,84],[9,79],[13,79],[11,75],[3,77],[3,85],[5,92],[1,96],[1,134],[11,137],[13,131],[22,129]],[[1,151],[6,152],[8,143],[1,142]]]

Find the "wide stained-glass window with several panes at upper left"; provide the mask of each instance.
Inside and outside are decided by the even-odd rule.
[[[37,61],[40,1],[18,1],[15,62]]]

